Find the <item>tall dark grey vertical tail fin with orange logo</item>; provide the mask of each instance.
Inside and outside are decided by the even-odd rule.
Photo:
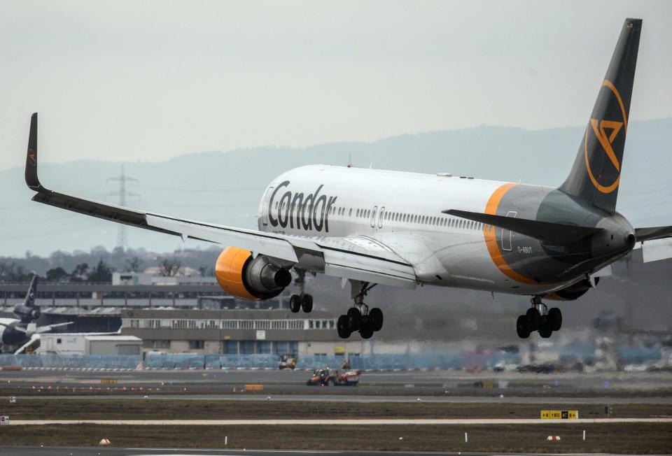
[[[616,211],[642,20],[626,19],[574,166],[560,190]]]

